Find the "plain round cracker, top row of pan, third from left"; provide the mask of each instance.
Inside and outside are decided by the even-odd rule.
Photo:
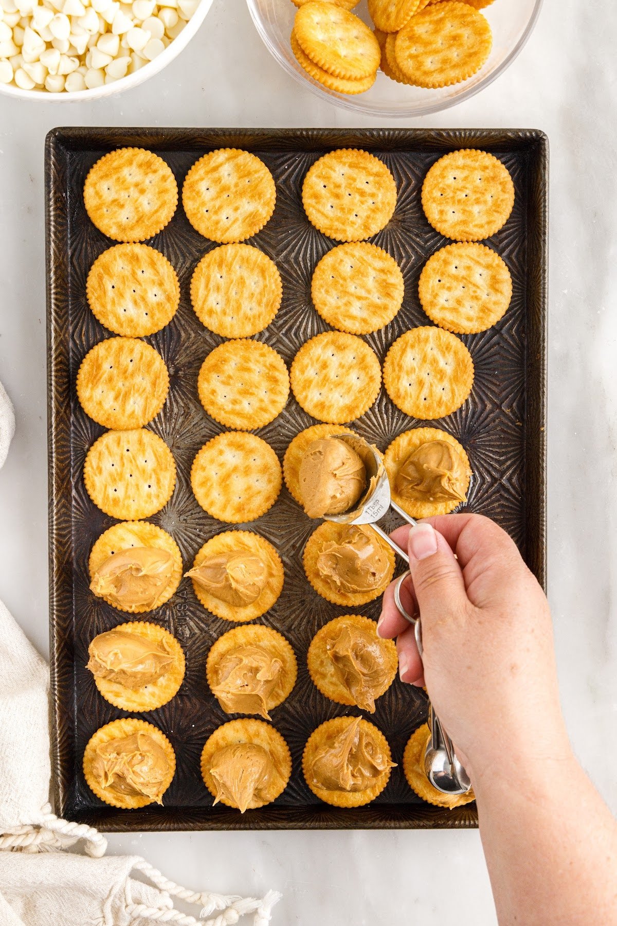
[[[319,232],[337,241],[362,241],[388,225],[396,183],[378,157],[341,148],[320,157],[302,183],[302,206]]]

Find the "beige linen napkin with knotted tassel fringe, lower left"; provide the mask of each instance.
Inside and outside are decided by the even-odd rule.
[[[0,383],[0,466],[14,427]],[[231,926],[249,914],[253,926],[266,926],[277,892],[255,899],[188,891],[139,856],[104,857],[105,836],[56,817],[48,692],[46,663],[0,602],[0,926]],[[59,851],[80,840],[85,856]],[[200,907],[199,920],[174,897]]]

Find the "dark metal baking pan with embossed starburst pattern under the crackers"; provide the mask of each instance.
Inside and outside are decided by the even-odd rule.
[[[263,158],[277,182],[273,218],[251,240],[272,257],[283,281],[277,318],[258,340],[276,347],[289,364],[308,338],[327,330],[312,307],[310,284],[318,259],[333,242],[315,231],[302,210],[300,191],[306,170],[328,150],[362,147],[383,158],[397,181],[396,212],[374,239],[401,265],[405,299],[388,327],[367,335],[380,360],[399,335],[429,324],[417,295],[426,259],[447,244],[422,212],[420,188],[426,170],[447,151],[478,147],[499,156],[512,174],[516,200],[512,216],[487,244],[512,272],[512,305],[487,332],[463,336],[475,362],[473,392],[446,419],[417,422],[392,405],[381,390],[374,407],[352,427],[382,450],[397,434],[417,424],[434,424],[464,445],[474,470],[467,508],[496,519],[512,534],[530,568],[545,582],[546,562],[546,312],[548,144],[540,131],[523,130],[181,130],[56,129],[47,136],[47,332],[49,426],[49,538],[52,690],[54,697],[53,769],[56,812],[69,820],[105,830],[401,828],[473,827],[475,805],[444,810],[417,798],[403,777],[404,745],[426,719],[422,692],[398,680],[379,698],[370,718],[386,734],[398,768],[373,804],[352,810],[317,801],[302,779],[302,748],[324,720],[356,710],[333,704],[320,694],[306,669],[306,650],[327,620],[345,613],[330,605],[306,581],[302,548],[317,522],[306,518],[283,488],[263,518],[245,525],[273,543],[285,566],[285,586],[275,607],[259,622],[283,633],[298,657],[298,682],[272,712],[287,739],[293,771],[287,789],[272,805],[243,816],[212,807],[199,770],[209,734],[228,720],[205,681],[211,644],[231,624],[199,604],[191,582],[163,607],[147,615],[174,633],[187,657],[186,680],[165,707],[143,715],[160,727],[176,750],[178,770],[164,807],[122,811],[107,807],[89,790],[81,773],[84,746],[92,733],[126,716],[98,694],[85,669],[87,647],[96,633],[127,619],[95,598],[88,587],[88,556],[96,538],[113,520],[94,507],[85,491],[82,468],[88,448],[103,432],[82,411],[75,379],[82,357],[108,336],[86,302],[85,284],[93,260],[110,244],[87,218],[83,181],[94,161],[123,145],[149,148],[164,157],[179,186],[191,164],[206,151],[233,146]],[[151,520],[177,541],[184,565],[204,541],[228,529],[209,518],[191,492],[191,461],[206,440],[222,429],[204,413],[197,396],[197,374],[206,354],[222,340],[195,317],[189,297],[192,269],[216,245],[194,232],[179,206],[167,228],[149,244],[161,250],[178,272],[181,301],[176,317],[145,340],[164,357],[170,391],[163,411],[149,427],[160,434],[178,465],[178,484],[167,506]],[[292,396],[282,414],[257,433],[282,459],[291,438],[314,424]],[[397,525],[389,519],[388,528]],[[233,525],[241,528],[243,525]],[[379,602],[360,608],[376,618]]]

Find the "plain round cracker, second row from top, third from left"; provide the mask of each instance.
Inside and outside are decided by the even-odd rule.
[[[394,318],[405,285],[394,257],[376,244],[339,244],[322,257],[311,296],[324,321],[340,332],[368,334]]]

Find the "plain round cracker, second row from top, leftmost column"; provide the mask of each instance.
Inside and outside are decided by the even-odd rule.
[[[167,257],[149,244],[115,244],[96,258],[86,282],[94,316],[115,334],[159,332],[179,307],[180,287]]]

